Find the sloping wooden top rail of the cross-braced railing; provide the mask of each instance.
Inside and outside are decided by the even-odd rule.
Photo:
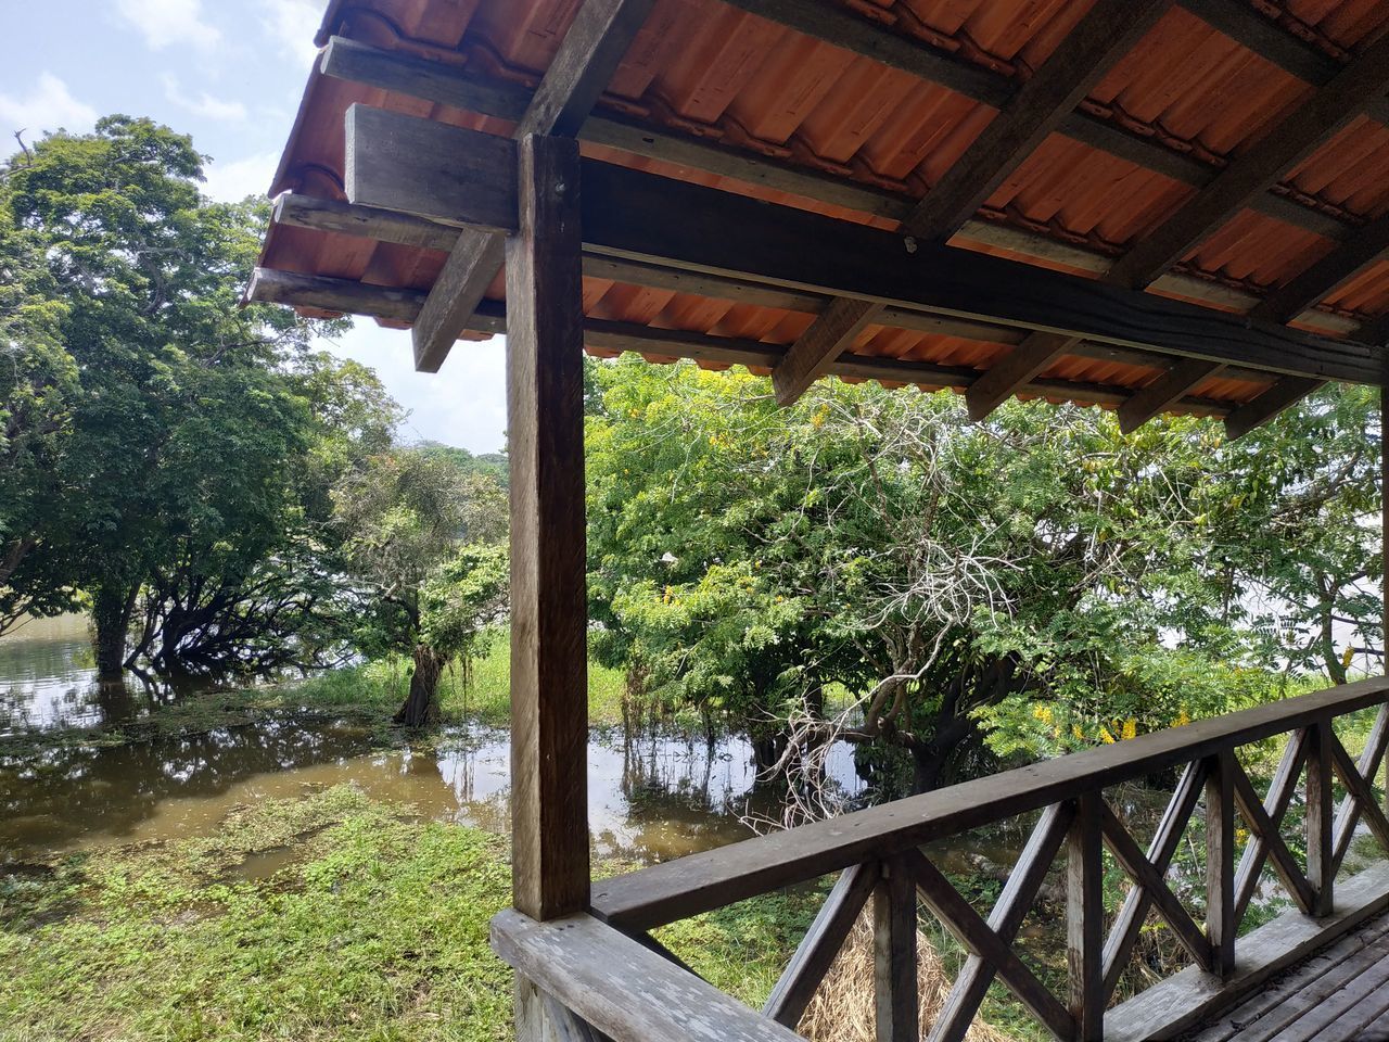
[[[1376,677],[757,836],[594,882],[593,913],[649,929],[1386,700]]]

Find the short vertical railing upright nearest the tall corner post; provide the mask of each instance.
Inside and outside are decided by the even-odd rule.
[[[917,1025],[917,885],[901,857],[882,863],[872,895],[878,1042],[920,1042]]]

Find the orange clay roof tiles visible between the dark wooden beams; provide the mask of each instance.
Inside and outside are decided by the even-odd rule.
[[[953,53],[1014,82],[1046,60],[1089,8],[1086,0],[840,0],[890,32]],[[1239,4],[1245,0],[1215,0]],[[1261,17],[1335,61],[1389,24],[1382,0],[1249,0]],[[533,86],[579,0],[336,0],[318,42],[347,36]],[[1315,88],[1245,49],[1176,4],[1081,104],[1118,129],[1213,168],[1224,165]],[[314,71],[272,195],[342,199],[343,115],[363,101],[494,133],[506,121],[347,83]],[[714,139],[864,185],[920,197],[954,163],[995,111],[979,101],[803,36],[720,0],[660,0],[599,110]],[[1357,118],[1274,188],[1329,225],[1356,228],[1389,210],[1389,128],[1381,110]],[[596,158],[671,174],[885,228],[886,218],[754,189],[626,153],[585,144]],[[986,201],[975,228],[1025,236],[971,239],[982,249],[1093,276],[1171,215],[1197,189],[1053,133]],[[1001,245],[1000,245],[1001,243]],[[1071,247],[1056,250],[1038,245]],[[1240,211],[1200,243],[1154,292],[1238,307],[1286,282],[1336,243],[1265,213]],[[1046,256],[1042,256],[1042,254]],[[1071,260],[1093,257],[1095,264]],[[444,254],[369,239],[276,225],[263,264],[285,271],[428,289]],[[1175,289],[1174,289],[1175,286]],[[1233,290],[1221,296],[1182,286]],[[788,345],[811,315],[668,290],[586,279],[590,317]],[[489,296],[503,296],[499,276]],[[1354,331],[1389,311],[1389,263],[1381,261],[1322,301],[1328,329]],[[1338,324],[1339,322],[1339,324]],[[865,356],[988,368],[1010,350],[918,331],[870,326],[853,346]],[[1161,372],[1133,353],[1060,358],[1053,381],[1132,389]],[[1225,403],[1256,397],[1267,381],[1226,371],[1193,395]],[[1065,397],[1058,393],[1058,397]],[[1093,400],[1093,399],[1092,399]],[[1196,410],[1200,411],[1200,410]]]

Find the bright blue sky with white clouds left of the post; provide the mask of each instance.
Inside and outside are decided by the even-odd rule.
[[[90,131],[149,115],[211,157],[204,192],[235,201],[269,188],[314,61],[328,0],[0,0],[0,135]],[[410,333],[356,320],[324,343],[381,377],[410,410],[401,436],[494,452],[506,428],[503,342],[460,343],[435,375],[414,371]]]

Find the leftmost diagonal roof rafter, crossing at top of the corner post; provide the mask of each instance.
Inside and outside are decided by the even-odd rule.
[[[515,136],[576,133],[653,6],[654,0],[583,0]],[[501,270],[504,247],[504,236],[496,232],[460,232],[413,331],[417,370],[438,372]]]

